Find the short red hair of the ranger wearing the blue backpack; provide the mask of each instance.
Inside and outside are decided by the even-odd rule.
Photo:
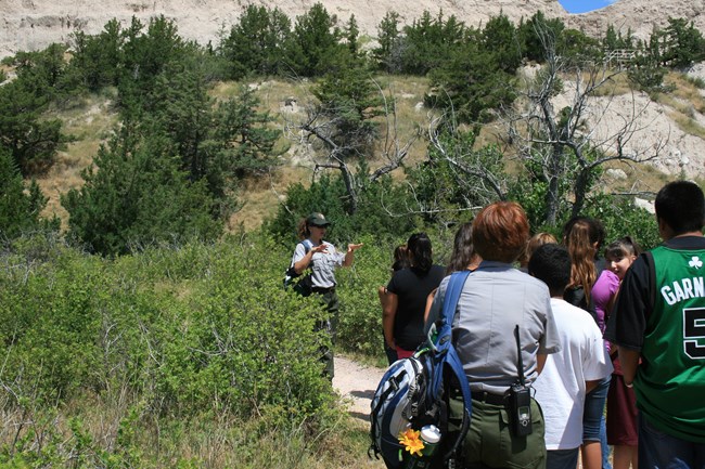
[[[526,212],[515,201],[496,201],[473,221],[475,250],[488,261],[514,262],[522,253],[529,227]]]

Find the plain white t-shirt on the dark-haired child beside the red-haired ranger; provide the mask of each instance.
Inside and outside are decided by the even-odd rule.
[[[548,355],[534,382],[546,420],[546,448],[573,450],[582,444],[585,381],[612,373],[610,354],[592,316],[568,302],[551,298],[561,351]]]

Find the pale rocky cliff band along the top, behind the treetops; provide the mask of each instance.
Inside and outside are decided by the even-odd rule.
[[[611,6],[568,14],[557,0],[343,0],[321,1],[343,22],[355,14],[360,29],[376,36],[376,26],[387,11],[411,23],[428,10],[445,16],[456,15],[467,25],[480,25],[503,12],[518,22],[541,10],[549,17],[561,17],[568,26],[599,35],[607,24],[626,31],[631,28],[648,38],[654,26],[666,24],[668,16],[687,17],[705,30],[705,0],[618,0]],[[316,0],[0,0],[0,58],[18,50],[42,49],[51,42],[69,41],[72,32],[100,31],[111,18],[127,23],[132,16],[142,21],[164,14],[174,19],[182,37],[202,44],[217,43],[220,30],[236,22],[248,3],[278,6],[292,19],[305,13]]]

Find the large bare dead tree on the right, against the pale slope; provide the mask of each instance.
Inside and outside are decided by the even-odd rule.
[[[636,142],[651,123],[639,123],[648,104],[639,106],[633,92],[615,93],[615,78],[623,71],[562,57],[550,31],[538,32],[546,64],[526,80],[516,104],[503,109],[507,132],[500,138],[525,168],[542,174],[548,185],[546,222],[555,225],[561,204],[571,204],[574,216],[584,209],[600,167],[614,160],[654,160],[668,135],[649,145]]]

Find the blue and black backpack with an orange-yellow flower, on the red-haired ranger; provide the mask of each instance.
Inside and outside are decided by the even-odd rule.
[[[421,458],[425,468],[454,467],[472,414],[467,377],[452,343],[451,324],[458,299],[469,271],[452,274],[444,299],[440,318],[432,325],[428,341],[409,359],[398,360],[385,372],[374,393],[370,413],[368,454],[380,455],[388,469],[408,467],[411,452],[405,445],[405,434],[411,430],[419,438],[424,426],[440,431],[440,442],[432,456]],[[449,426],[449,399],[462,398],[462,416],[453,416],[458,425]],[[415,433],[415,434],[414,434]],[[426,457],[428,459],[426,459]]]

